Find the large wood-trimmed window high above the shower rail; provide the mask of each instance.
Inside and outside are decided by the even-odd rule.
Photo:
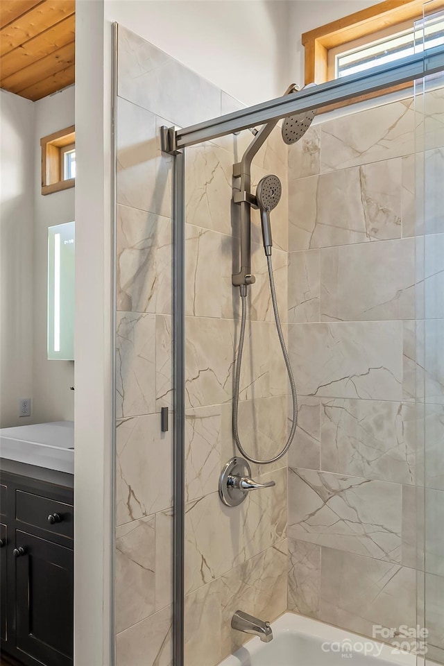
[[[336,56],[339,53],[347,54],[348,63],[344,62],[344,58],[343,64],[350,65],[352,54],[357,53],[364,44],[368,44],[369,48],[366,56],[360,58],[360,62],[366,57],[367,67],[382,64],[386,49],[382,47],[382,52],[378,53],[377,45],[393,36],[391,48],[393,51],[402,51],[402,44],[409,43],[408,35],[411,34],[414,22],[422,19],[424,8],[427,13],[442,11],[444,0],[432,0],[428,3],[423,0],[386,0],[304,33],[302,44],[305,47],[305,83],[324,83],[336,78]],[[411,37],[412,41],[415,41],[415,35]],[[407,51],[406,46],[406,55]],[[357,71],[351,67],[349,71],[346,69],[347,67],[343,67],[343,75]],[[398,86],[398,89],[401,87],[409,87],[409,84]],[[377,94],[386,92],[391,91],[385,90]]]

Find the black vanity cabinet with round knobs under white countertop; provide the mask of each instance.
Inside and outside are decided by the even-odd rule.
[[[24,666],[72,666],[73,477],[1,460],[0,484],[1,650]]]

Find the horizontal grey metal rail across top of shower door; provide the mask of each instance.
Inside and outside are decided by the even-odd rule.
[[[423,53],[402,58],[390,67],[382,65],[374,67],[364,74],[350,74],[350,76],[302,89],[297,94],[271,99],[197,125],[183,129],[164,127],[162,128],[162,150],[176,154],[187,146],[211,141],[217,137],[263,125],[268,121],[295,113],[353,99],[360,94],[377,92],[384,88],[407,83],[443,69],[444,49],[443,46],[436,46]]]

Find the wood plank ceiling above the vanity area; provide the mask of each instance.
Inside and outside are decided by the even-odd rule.
[[[0,87],[36,101],[74,83],[75,0],[0,0]]]

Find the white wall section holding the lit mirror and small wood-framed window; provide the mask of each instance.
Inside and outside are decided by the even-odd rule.
[[[34,381],[33,422],[74,420],[73,361],[48,361],[48,227],[75,219],[75,188],[42,195],[40,139],[74,125],[74,86],[34,103]],[[24,419],[22,419],[23,421]]]

